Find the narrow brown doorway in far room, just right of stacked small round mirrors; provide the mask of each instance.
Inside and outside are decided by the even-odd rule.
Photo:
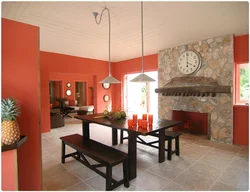
[[[75,82],[75,97],[77,106],[86,105],[86,82]]]

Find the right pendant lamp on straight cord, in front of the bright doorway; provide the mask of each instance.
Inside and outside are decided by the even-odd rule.
[[[142,73],[135,77],[134,79],[131,80],[131,82],[138,82],[138,83],[143,83],[143,82],[152,82],[155,81],[148,75],[144,73],[144,56],[143,56],[143,2],[141,2],[141,37],[142,37]]]

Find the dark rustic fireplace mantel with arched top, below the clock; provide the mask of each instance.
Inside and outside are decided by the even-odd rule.
[[[162,88],[155,89],[162,96],[212,96],[216,93],[232,93],[231,86],[221,86],[207,77],[175,77]]]

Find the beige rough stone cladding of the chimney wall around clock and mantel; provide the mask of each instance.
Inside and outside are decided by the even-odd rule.
[[[233,87],[233,35],[225,35],[159,51],[159,88],[174,77],[185,76],[179,72],[176,63],[180,53],[186,50],[195,50],[202,58],[200,70],[189,76],[208,77],[216,80],[219,85]],[[232,93],[216,94],[216,97],[172,97],[159,94],[158,98],[159,117],[172,119],[172,110],[210,113],[210,140],[232,144]]]

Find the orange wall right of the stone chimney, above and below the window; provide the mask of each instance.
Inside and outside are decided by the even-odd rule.
[[[249,63],[249,35],[234,37],[234,62]],[[236,89],[239,91],[239,89]],[[249,144],[249,106],[234,105],[234,132],[233,143],[238,145]]]

